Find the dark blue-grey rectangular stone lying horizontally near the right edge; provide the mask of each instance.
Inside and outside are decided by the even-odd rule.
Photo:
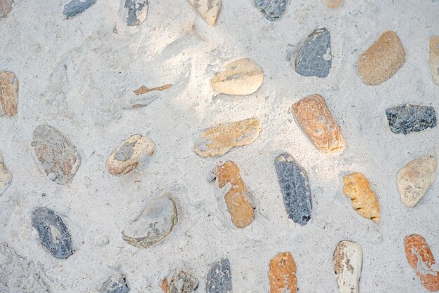
[[[419,132],[434,128],[438,121],[433,107],[405,104],[386,109],[387,121],[393,133]]]

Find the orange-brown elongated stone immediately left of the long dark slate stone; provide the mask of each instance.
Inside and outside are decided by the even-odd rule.
[[[237,228],[244,228],[250,225],[255,214],[250,199],[250,192],[241,178],[238,165],[232,161],[227,161],[217,166],[216,177],[217,188],[224,194],[231,222]]]

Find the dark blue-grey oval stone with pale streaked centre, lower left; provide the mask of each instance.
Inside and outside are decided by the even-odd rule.
[[[32,212],[32,226],[41,243],[57,259],[67,259],[73,254],[72,238],[61,217],[47,207]]]

